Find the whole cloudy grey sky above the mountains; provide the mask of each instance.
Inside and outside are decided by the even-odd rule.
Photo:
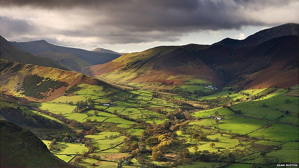
[[[0,34],[92,50],[141,51],[160,45],[244,39],[299,21],[298,0],[1,0]]]

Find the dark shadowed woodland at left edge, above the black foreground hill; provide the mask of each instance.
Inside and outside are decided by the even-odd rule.
[[[20,109],[20,106],[18,106],[17,108],[13,108],[13,107],[1,108],[1,115],[7,120],[21,125],[24,124],[33,127],[54,128],[54,129],[64,128],[64,126],[57,121],[45,118],[38,114],[28,114],[23,112]]]

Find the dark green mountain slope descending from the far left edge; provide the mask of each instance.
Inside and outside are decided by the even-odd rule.
[[[11,43],[9,43],[5,38],[0,36],[0,56],[1,59],[7,59],[13,62],[22,62],[25,64],[40,65],[46,67],[54,67],[59,69],[67,69],[61,65],[56,64],[50,59],[39,57],[35,54],[23,51]]]

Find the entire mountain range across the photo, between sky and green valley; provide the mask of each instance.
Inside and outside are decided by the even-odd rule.
[[[1,37],[1,59],[82,72],[119,84],[201,79],[221,87],[287,88],[298,83],[298,24],[261,30],[244,40],[160,46],[131,54],[61,47],[45,40],[9,43]]]

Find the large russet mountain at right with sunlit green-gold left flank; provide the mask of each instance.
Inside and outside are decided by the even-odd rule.
[[[201,79],[218,86],[287,88],[298,83],[298,52],[294,35],[237,49],[222,44],[161,46],[124,54],[83,73],[119,83],[183,84]]]

